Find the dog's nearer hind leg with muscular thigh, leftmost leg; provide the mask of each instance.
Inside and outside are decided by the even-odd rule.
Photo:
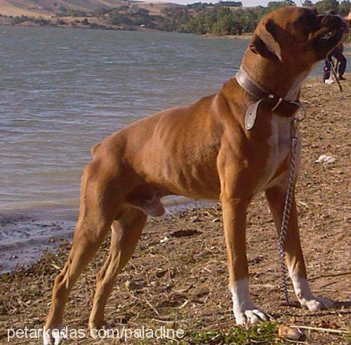
[[[56,277],[53,286],[51,309],[45,325],[47,332],[44,334],[44,344],[51,344],[52,341],[60,344],[60,336],[49,330],[62,326],[69,292],[81,272],[98,252],[112,222],[116,219],[123,197],[123,191],[117,190],[116,181],[116,176],[110,176],[110,170],[102,166],[99,161],[91,162],[84,170],[79,219],[67,263]]]

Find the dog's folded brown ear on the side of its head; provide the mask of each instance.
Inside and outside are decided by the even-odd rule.
[[[282,61],[282,52],[275,37],[277,37],[277,25],[273,20],[267,20],[262,29],[253,35],[251,51],[269,60]]]

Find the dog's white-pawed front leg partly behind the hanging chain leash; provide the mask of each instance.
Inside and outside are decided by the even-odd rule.
[[[270,211],[274,218],[277,232],[280,233],[282,224],[282,214],[284,209],[286,190],[277,187],[266,191]],[[300,235],[298,230],[298,211],[296,209],[295,196],[291,204],[289,227],[285,240],[286,263],[289,268],[289,275],[293,282],[293,289],[296,297],[303,308],[310,311],[318,311],[319,309],[332,308],[333,303],[328,299],[316,297],[310,289],[307,281],[305,262],[303,260],[303,252],[300,245]]]

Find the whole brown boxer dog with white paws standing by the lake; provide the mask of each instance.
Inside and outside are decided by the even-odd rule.
[[[273,11],[260,20],[237,78],[218,93],[140,119],[93,147],[82,176],[72,249],[53,286],[45,344],[60,343],[53,329],[62,327],[69,292],[111,229],[110,254],[97,275],[89,318],[91,329],[105,326],[114,281],[147,216],[164,214],[165,195],[220,200],[235,320],[239,325],[267,320],[249,294],[246,210],[253,196],[265,191],[279,231],[301,84],[347,32],[338,15],[298,7]],[[331,308],[331,301],[315,297],[308,285],[295,200],[285,251],[301,306]]]

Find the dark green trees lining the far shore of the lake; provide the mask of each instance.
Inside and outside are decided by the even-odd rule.
[[[122,6],[112,9],[100,8],[91,13],[67,11],[67,9],[61,8],[61,12],[57,16],[100,18],[101,24],[88,22],[86,18],[84,20],[77,19],[71,23],[72,25],[80,23],[91,28],[135,30],[135,27],[141,26],[162,31],[224,36],[253,32],[263,15],[285,6],[296,5],[292,0],[270,1],[267,6],[251,8],[243,8],[241,1],[219,1],[217,4],[197,2],[187,6],[168,6],[163,8],[160,14],[154,14],[145,8],[141,8],[138,4],[126,1]],[[322,0],[316,4],[312,4],[310,0],[305,0],[303,6],[314,7],[319,13],[333,10],[343,16],[347,16],[351,11],[350,0],[341,2]],[[27,16],[15,17],[13,18],[13,24],[30,20],[33,21],[34,18],[28,18]],[[50,20],[44,19],[34,21],[37,21],[39,25],[53,24]],[[56,24],[65,25],[66,23],[63,20],[58,20]]]

